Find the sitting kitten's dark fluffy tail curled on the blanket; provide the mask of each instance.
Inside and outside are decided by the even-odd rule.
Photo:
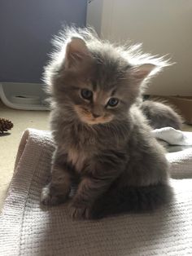
[[[172,199],[172,188],[158,184],[148,187],[126,187],[109,191],[95,201],[91,218],[103,218],[111,214],[143,213],[154,211]]]

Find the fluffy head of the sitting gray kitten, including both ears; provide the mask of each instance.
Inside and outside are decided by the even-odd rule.
[[[126,117],[155,64],[131,64],[124,53],[93,34],[65,40],[46,70],[46,82],[63,113],[89,125]]]

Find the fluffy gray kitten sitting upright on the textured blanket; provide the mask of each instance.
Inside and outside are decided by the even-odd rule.
[[[101,41],[90,29],[66,29],[56,44],[45,73],[56,148],[41,203],[67,201],[72,184],[72,218],[154,210],[169,201],[164,148],[137,104],[158,70],[155,59]]]

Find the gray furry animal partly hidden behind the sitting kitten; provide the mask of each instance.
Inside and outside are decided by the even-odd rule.
[[[142,102],[141,108],[153,129],[170,126],[181,130],[182,118],[170,106],[152,100],[145,100]]]

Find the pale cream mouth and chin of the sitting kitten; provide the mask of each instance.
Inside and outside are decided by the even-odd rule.
[[[112,120],[112,116],[104,115],[103,117],[94,117],[92,113],[90,113],[85,108],[81,108],[81,106],[76,105],[75,111],[81,121],[89,124],[89,125],[97,125],[107,123]]]

